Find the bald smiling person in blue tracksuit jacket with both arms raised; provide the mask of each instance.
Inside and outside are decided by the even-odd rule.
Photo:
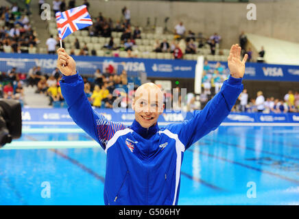
[[[75,61],[58,49],[60,81],[69,114],[107,154],[104,202],[106,205],[177,205],[180,167],[184,151],[217,129],[228,116],[239,94],[247,55],[240,60],[241,47],[232,45],[228,57],[230,77],[204,110],[193,112],[183,123],[158,127],[164,110],[162,92],[145,83],[135,94],[135,120],[130,127],[106,120],[95,112],[84,93],[84,82]]]

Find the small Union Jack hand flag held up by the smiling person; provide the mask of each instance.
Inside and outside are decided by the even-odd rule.
[[[78,29],[93,25],[91,16],[88,14],[86,5],[71,8],[65,12],[57,12],[56,23],[60,40],[69,36]]]

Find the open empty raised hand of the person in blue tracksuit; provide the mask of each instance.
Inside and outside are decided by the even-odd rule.
[[[248,55],[245,54],[241,61],[241,47],[239,47],[239,44],[232,45],[228,56],[228,68],[230,68],[232,77],[242,78],[244,76],[247,57]]]

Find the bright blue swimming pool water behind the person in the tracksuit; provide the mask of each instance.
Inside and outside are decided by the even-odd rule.
[[[0,205],[104,205],[105,168],[77,126],[25,126],[0,150]],[[299,205],[299,127],[219,127],[185,151],[178,204]]]

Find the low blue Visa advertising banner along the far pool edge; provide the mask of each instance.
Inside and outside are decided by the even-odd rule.
[[[124,123],[125,125],[131,125],[135,118],[134,112],[114,112],[112,109],[95,110],[105,116],[107,120]],[[182,123],[184,120],[191,119],[192,115],[191,112],[164,112],[158,118],[158,124],[164,126],[169,123]],[[23,125],[75,125],[67,108],[23,108],[22,121]],[[225,118],[224,123],[298,123],[299,125],[299,113],[230,113]]]

